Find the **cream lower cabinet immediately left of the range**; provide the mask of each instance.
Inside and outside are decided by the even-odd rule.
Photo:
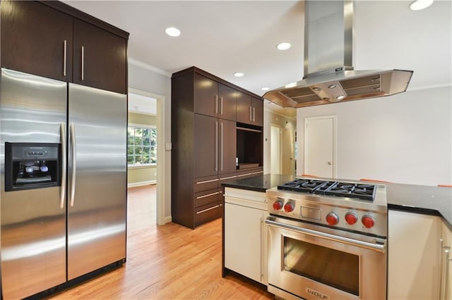
[[[266,194],[225,188],[225,268],[267,285]]]

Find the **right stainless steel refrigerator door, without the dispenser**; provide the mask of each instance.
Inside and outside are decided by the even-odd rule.
[[[68,279],[126,258],[124,94],[69,84]]]

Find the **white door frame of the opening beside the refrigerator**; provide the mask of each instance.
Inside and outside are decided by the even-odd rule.
[[[129,92],[141,96],[147,96],[157,99],[157,225],[164,225],[168,223],[165,220],[165,173],[166,173],[166,161],[165,161],[165,96],[145,92],[141,89],[133,89],[129,87]]]

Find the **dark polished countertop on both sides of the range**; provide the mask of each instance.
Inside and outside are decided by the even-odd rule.
[[[294,178],[295,176],[291,175],[263,174],[229,180],[222,185],[265,192],[266,189],[276,187]],[[375,183],[381,184],[381,182]],[[452,188],[396,183],[384,183],[384,185],[386,185],[388,209],[424,215],[438,215],[446,220],[448,227],[452,230]]]

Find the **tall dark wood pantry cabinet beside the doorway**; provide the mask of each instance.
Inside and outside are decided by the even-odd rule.
[[[257,138],[248,139],[256,144],[252,151],[257,149],[258,154],[245,154],[250,143],[243,142],[242,125],[242,130],[237,130],[239,94],[259,101],[257,95],[195,67],[172,75],[174,223],[194,228],[220,217],[223,211],[221,182],[262,172],[262,127],[251,125],[250,132],[260,133],[256,133]],[[258,118],[263,120],[263,101],[256,102],[258,104],[261,104]],[[237,170],[239,156],[241,160],[252,157],[256,168],[245,172]]]

